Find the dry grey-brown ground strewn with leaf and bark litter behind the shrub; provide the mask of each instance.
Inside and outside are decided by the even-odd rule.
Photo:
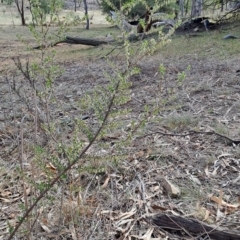
[[[198,40],[187,44],[192,41]],[[18,48],[1,39],[2,52],[14,53],[14,47]],[[122,116],[122,127],[93,145],[87,154],[92,160],[80,160],[69,172],[69,182],[59,181],[37,206],[30,239],[210,239],[207,234],[163,230],[145,221],[157,213],[194,218],[240,235],[240,145],[223,137],[240,140],[239,52],[217,58],[213,47],[205,56],[200,53],[203,50],[195,50],[171,55],[169,47],[167,54],[159,51],[137,63],[141,72],[130,78],[131,100],[123,106],[130,111]],[[0,239],[6,239],[9,227],[17,223],[24,202],[17,146],[19,122],[27,110],[9,91],[7,79],[10,83],[15,79],[19,85],[24,81],[21,74],[6,70],[10,57],[0,63]],[[116,66],[124,65],[121,57],[109,58]],[[85,92],[106,85],[105,73],[114,74],[114,69],[99,57],[84,56],[60,64],[64,73],[55,81],[54,89],[61,108],[52,106],[50,111],[56,122],[63,123],[58,140],[67,142],[73,137],[72,120],[86,117],[89,124],[96,124],[90,111],[78,108],[78,100]],[[166,68],[164,76],[159,74],[160,64]],[[186,77],[178,85],[183,72]],[[25,96],[31,98],[31,91],[22,87]],[[119,151],[115,145],[127,136],[129,124],[141,118],[146,104],[156,102],[158,112],[150,114],[131,144]],[[37,157],[29,147],[34,136],[29,129],[33,129],[31,119],[24,125],[24,143],[28,146],[24,171],[31,179],[42,181],[46,176],[41,176],[41,167],[39,175],[34,175]],[[39,140],[44,138],[40,136]],[[103,149],[101,141],[109,147]],[[48,154],[54,155],[53,145],[48,142]],[[45,156],[46,166],[51,160]],[[64,165],[64,157],[62,161]],[[82,164],[86,164],[84,171],[79,170]],[[56,174],[57,170],[52,170]],[[166,179],[180,189],[178,196],[172,196]],[[37,192],[30,183],[27,186],[29,201],[33,201]],[[26,238],[24,229],[25,223],[16,239]]]

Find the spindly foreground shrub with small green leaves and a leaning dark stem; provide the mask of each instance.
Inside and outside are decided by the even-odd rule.
[[[40,50],[35,53],[38,60],[28,60],[26,69],[23,68],[20,60],[17,62],[17,66],[24,76],[23,84],[30,91],[28,94],[32,96],[29,98],[25,93],[18,92],[18,96],[21,96],[28,105],[28,114],[34,116],[34,128],[31,129],[29,126],[28,131],[33,130],[34,138],[42,137],[45,141],[45,144],[42,145],[37,140],[29,144],[29,151],[33,153],[31,168],[34,177],[33,175],[24,176],[22,181],[31,185],[32,191],[38,195],[36,199],[33,199],[33,204],[31,202],[30,210],[37,207],[40,200],[52,204],[55,200],[55,197],[51,197],[51,194],[55,193],[54,184],[57,183],[60,189],[64,189],[66,186],[68,187],[69,182],[75,182],[75,173],[79,174],[83,171],[89,174],[107,173],[109,165],[112,163],[117,165],[123,157],[126,157],[127,147],[131,145],[134,134],[141,134],[149,123],[150,117],[157,114],[157,110],[161,107],[157,104],[142,106],[142,114],[136,120],[132,120],[128,129],[125,130],[124,119],[131,113],[131,109],[127,105],[132,98],[130,78],[140,73],[140,68],[137,67],[139,59],[156,52],[168,42],[168,37],[172,33],[171,31],[169,35],[159,33],[155,38],[139,41],[137,47],[124,38],[121,65],[119,66],[118,59],[116,61],[107,59],[106,62],[110,68],[109,72],[105,72],[107,83],[95,86],[79,97],[79,112],[87,113],[93,119],[86,121],[78,116],[73,116],[71,111],[64,110],[56,97],[56,81],[63,70],[55,61],[55,51],[44,46],[49,46],[50,43],[57,41],[58,37],[55,36],[61,36],[64,28],[59,28],[57,33],[51,34],[50,26],[43,26],[47,14],[52,17],[57,16],[59,8],[53,2],[60,3],[60,1],[39,0],[31,2],[34,21],[42,25],[40,30],[34,25],[30,25],[32,36],[40,46]],[[134,1],[125,3],[121,7],[124,11],[128,11],[135,5]],[[145,8],[149,8],[149,2],[141,1],[141,4]],[[152,1],[151,4],[154,5],[153,10],[158,8],[156,2]],[[163,66],[159,70],[163,77],[166,70]],[[58,119],[52,113],[52,109],[60,109],[66,118]],[[119,132],[122,133],[122,136],[116,140],[113,156],[109,154],[113,150],[113,146],[102,139]],[[88,150],[91,152],[89,153]],[[46,196],[47,193],[49,193],[48,196]],[[65,193],[63,192],[63,194]],[[27,219],[30,213],[27,212],[27,207],[24,211],[26,214],[23,216],[23,220]],[[33,212],[31,214],[34,214]],[[35,217],[37,218],[37,216]],[[12,234],[15,230],[12,231]],[[29,227],[28,231],[31,230],[32,227]]]

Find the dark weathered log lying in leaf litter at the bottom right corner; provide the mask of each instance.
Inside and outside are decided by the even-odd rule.
[[[217,230],[195,219],[187,219],[179,216],[158,214],[150,217],[150,222],[162,229],[184,231],[187,234],[207,235],[209,239],[217,240],[239,240],[240,235]]]

